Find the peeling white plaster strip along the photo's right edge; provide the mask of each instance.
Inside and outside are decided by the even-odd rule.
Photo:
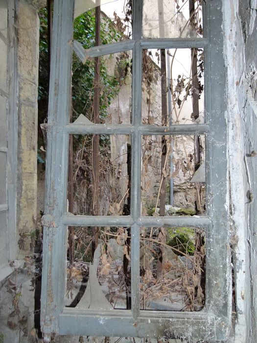
[[[257,342],[256,1],[224,1],[227,122],[234,251],[234,342]],[[253,87],[255,85],[255,88]],[[254,90],[254,92],[253,92]],[[255,270],[255,271],[254,271]]]

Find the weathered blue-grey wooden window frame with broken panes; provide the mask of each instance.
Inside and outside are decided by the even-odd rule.
[[[145,1],[146,3],[147,1]],[[230,327],[231,275],[228,247],[225,71],[223,61],[222,1],[204,1],[204,37],[149,38],[142,25],[143,1],[133,1],[133,39],[73,49],[83,59],[132,49],[131,124],[70,123],[70,68],[73,0],[54,2],[53,49],[47,124],[47,184],[44,225],[42,331],[45,339],[60,335],[167,337],[225,340]],[[142,35],[143,26],[143,35]],[[146,32],[146,33],[145,33]],[[146,36],[146,38],[142,38]],[[164,37],[164,38],[163,38]],[[187,36],[188,37],[188,36]],[[204,49],[205,123],[142,124],[141,61],[144,49]],[[85,216],[67,212],[69,136],[128,135],[131,145],[131,206],[128,216]],[[141,144],[145,137],[204,135],[206,146],[206,212],[203,216],[145,216],[141,214]],[[92,306],[65,307],[68,226],[125,227],[131,232],[131,308],[113,309],[90,278]],[[140,308],[140,233],[151,227],[203,228],[206,239],[205,306],[200,311],[150,311]],[[97,255],[97,254],[96,254]],[[99,257],[94,256],[94,261]],[[93,265],[94,266],[94,265]],[[94,267],[92,267],[93,270]],[[90,271],[91,272],[91,271]],[[93,271],[92,271],[93,274]],[[92,291],[93,289],[93,291]],[[91,290],[91,291],[90,291]],[[104,300],[105,299],[105,300]]]

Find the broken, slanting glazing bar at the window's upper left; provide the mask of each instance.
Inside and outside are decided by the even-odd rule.
[[[90,49],[84,49],[82,44],[76,40],[72,41],[72,49],[81,60],[85,63],[88,58],[110,55],[111,53],[122,52],[132,50],[135,44],[135,40],[128,39],[119,43],[111,43],[107,45],[101,45]]]

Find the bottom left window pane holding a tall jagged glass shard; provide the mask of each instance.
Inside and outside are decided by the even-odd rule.
[[[130,228],[69,227],[67,256],[66,306],[131,308]]]

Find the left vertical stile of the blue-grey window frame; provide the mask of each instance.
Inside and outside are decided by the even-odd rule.
[[[68,135],[62,126],[70,118],[73,0],[54,1],[51,75],[47,128],[45,213],[53,217],[44,226],[41,328],[45,340],[59,331],[66,285],[67,228],[60,217],[67,206]]]

